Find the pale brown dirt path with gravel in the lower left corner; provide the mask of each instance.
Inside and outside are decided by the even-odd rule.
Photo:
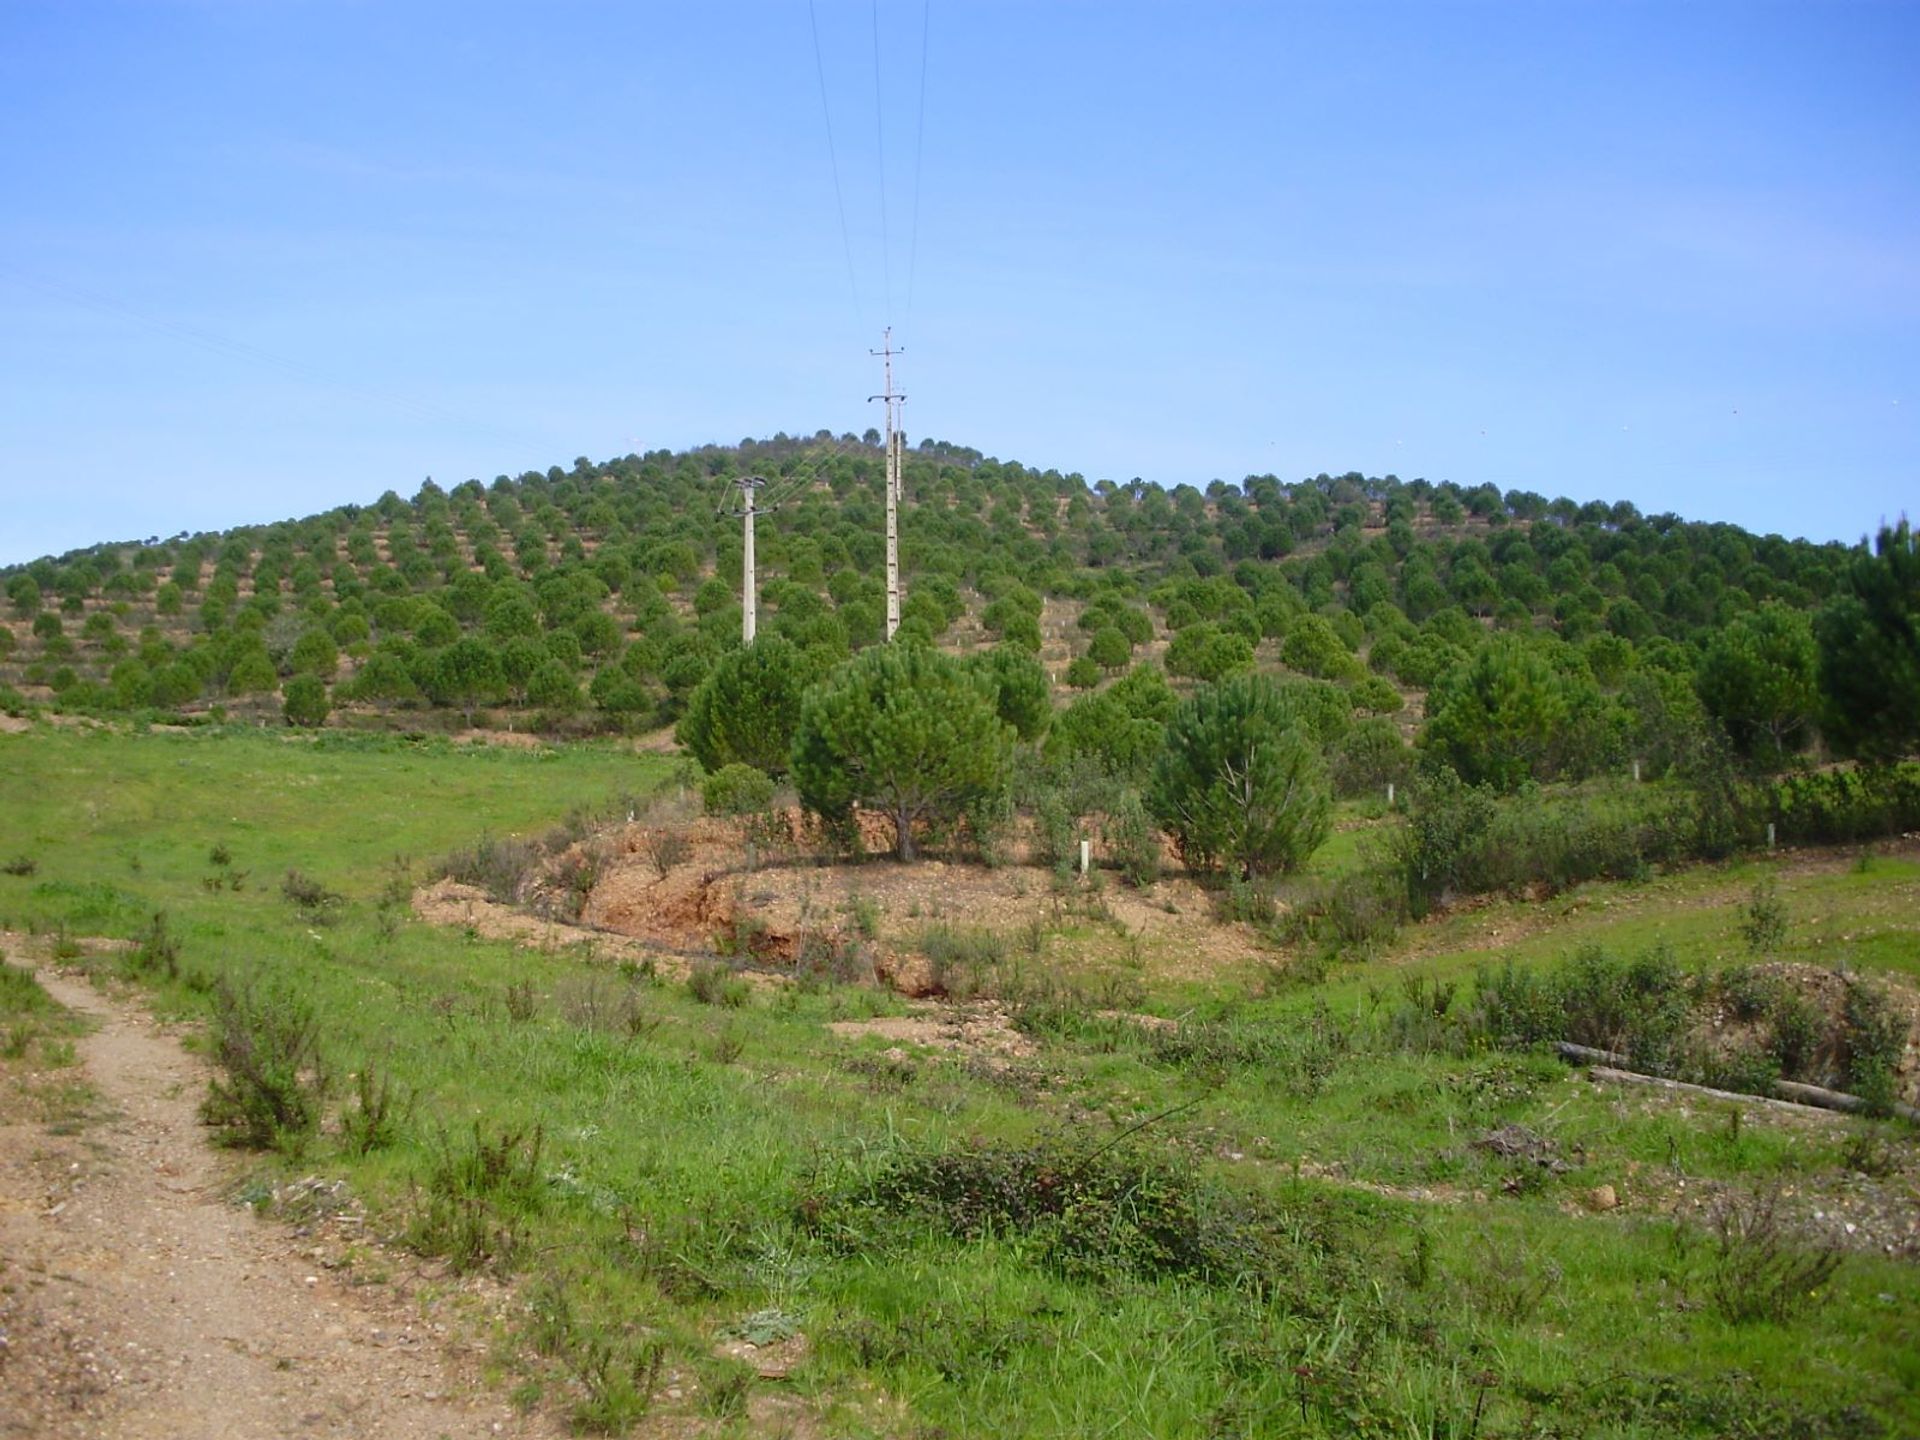
[[[0,1436],[549,1434],[463,1377],[417,1309],[223,1198],[205,1069],[175,1039],[38,979],[96,1021],[77,1048],[100,1100],[73,1135],[0,1114]]]

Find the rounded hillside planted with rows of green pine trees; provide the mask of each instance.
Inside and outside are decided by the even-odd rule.
[[[0,703],[276,720],[315,676],[296,718],[651,728],[737,645],[741,538],[716,513],[737,474],[780,503],[758,524],[762,630],[828,659],[879,639],[881,468],[854,436],[780,436],[35,561],[0,572]],[[1033,649],[1056,699],[1148,660],[1175,684],[1258,666],[1404,720],[1488,636],[1524,634],[1603,693],[1594,768],[1659,749],[1672,697],[1636,674],[1690,676],[1764,603],[1814,611],[1855,553],[1394,476],[1089,486],[922,442],[904,628]]]

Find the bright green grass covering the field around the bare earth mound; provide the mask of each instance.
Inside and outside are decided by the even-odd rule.
[[[156,1004],[207,1016],[221,981],[253,983],[323,1018],[326,1069],[351,1079],[300,1173],[346,1177],[382,1233],[520,1286],[505,1384],[582,1430],[674,1411],[737,1432],[766,1386],[714,1344],[770,1325],[806,1336],[789,1388],[820,1432],[849,1436],[1920,1425],[1910,1263],[1849,1256],[1822,1281],[1632,1204],[1653,1175],[1805,1187],[1837,1173],[1855,1121],[1734,1125],[1532,1054],[1421,1048],[1394,1021],[1415,1004],[1402,975],[1463,983],[1582,939],[1665,941],[1688,968],[1743,960],[1740,910],[1763,874],[1788,918],[1780,958],[1910,970],[1920,866],[1580,887],[1409,931],[1321,985],[1188,979],[1127,1006],[1075,979],[1092,941],[1071,929],[1027,956],[929,925],[920,943],[956,979],[993,993],[1018,977],[1031,1052],[1012,1058],[833,1037],[831,1021],[899,1006],[826,977],[668,983],[394,902],[396,854],[419,874],[666,774],[612,745],[4,735],[0,814],[36,868],[0,876],[0,920],[136,939],[165,914],[177,973],[134,970]],[[255,879],[207,883],[230,872]],[[288,872],[340,900],[290,899]],[[8,973],[0,1039],[42,1023]],[[1569,1167],[1473,1146],[1509,1123]],[[1912,1164],[1910,1137],[1885,1144]],[[1630,1204],[1586,1213],[1599,1185]],[[1812,1277],[1816,1294],[1724,1313],[1715,1296],[1747,1275]]]

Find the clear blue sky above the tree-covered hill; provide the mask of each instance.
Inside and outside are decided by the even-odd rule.
[[[881,0],[876,104],[814,2],[4,0],[0,563],[864,430],[889,319],[1089,480],[1920,509],[1920,6]]]

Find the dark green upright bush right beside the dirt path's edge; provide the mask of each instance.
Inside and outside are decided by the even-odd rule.
[[[326,1066],[313,1010],[292,995],[213,991],[213,1064],[200,1117],[227,1144],[298,1154],[321,1123]]]

